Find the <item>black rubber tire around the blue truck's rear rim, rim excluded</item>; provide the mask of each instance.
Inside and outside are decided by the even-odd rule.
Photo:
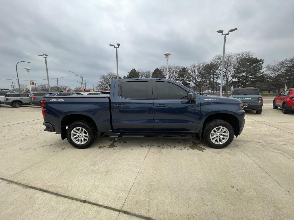
[[[77,144],[71,139],[71,131],[78,127],[85,129],[86,133],[88,133],[88,140],[84,144]],[[91,144],[95,141],[97,138],[97,132],[92,123],[89,123],[88,121],[76,121],[69,125],[66,132],[66,138],[67,141],[75,148],[84,149],[90,147]]]

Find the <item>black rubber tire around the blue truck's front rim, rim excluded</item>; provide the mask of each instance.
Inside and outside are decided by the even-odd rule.
[[[216,144],[216,143],[213,143],[210,136],[211,136],[211,132],[213,131],[214,128],[217,128],[219,126],[223,126],[225,127],[228,132],[229,132],[229,138],[228,140],[223,143],[223,144]],[[215,120],[212,120],[212,121],[209,121],[207,122],[205,125],[204,125],[204,128],[203,128],[203,140],[205,141],[205,143],[212,147],[212,148],[225,148],[226,146],[228,146],[234,139],[234,135],[235,135],[235,132],[234,132],[234,129],[233,127],[230,125],[230,123],[224,121],[224,120],[220,120],[220,119],[215,119]]]

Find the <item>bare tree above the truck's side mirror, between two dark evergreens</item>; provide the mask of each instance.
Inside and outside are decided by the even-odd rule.
[[[209,79],[209,74],[205,70],[206,62],[193,63],[189,67],[189,71],[192,74],[191,81],[193,83],[194,89],[197,88],[200,93],[201,88],[206,84],[206,81]]]

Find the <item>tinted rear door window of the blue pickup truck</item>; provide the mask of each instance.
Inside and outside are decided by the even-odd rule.
[[[122,82],[121,97],[127,99],[147,99],[148,82]]]

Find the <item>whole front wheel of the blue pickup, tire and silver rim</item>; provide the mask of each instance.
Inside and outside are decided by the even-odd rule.
[[[234,139],[234,129],[230,123],[216,119],[205,124],[203,139],[212,148],[225,148]]]

